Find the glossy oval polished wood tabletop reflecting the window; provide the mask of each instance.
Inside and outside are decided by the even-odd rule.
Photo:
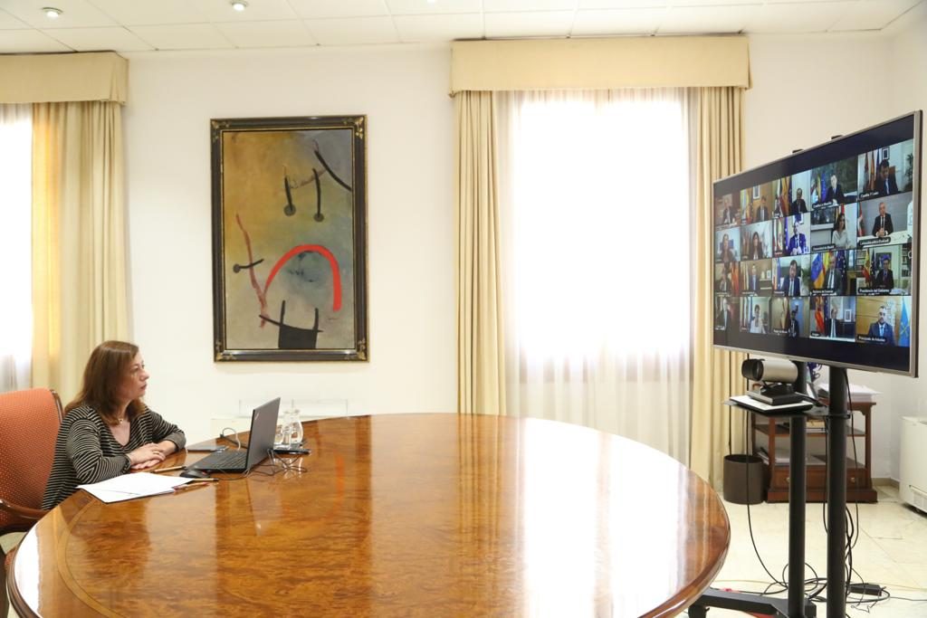
[[[247,477],[113,504],[79,491],[22,539],[14,608],[668,616],[699,597],[727,553],[717,493],[616,435],[457,414],[327,419],[304,433],[302,471],[265,462]]]

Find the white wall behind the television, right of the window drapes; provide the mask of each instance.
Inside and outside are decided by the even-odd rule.
[[[746,167],[927,107],[927,46],[915,35],[923,29],[923,20],[908,18],[903,28],[881,34],[751,37]],[[887,88],[876,85],[880,75]],[[921,285],[925,281],[921,277]],[[927,345],[924,337],[921,345]],[[927,387],[921,379],[870,372],[850,372],[850,381],[882,392],[872,411],[872,474],[897,478],[899,419],[918,410],[927,414]]]

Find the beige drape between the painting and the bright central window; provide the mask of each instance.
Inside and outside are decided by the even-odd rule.
[[[455,97],[457,411],[504,414],[499,188],[493,95]]]

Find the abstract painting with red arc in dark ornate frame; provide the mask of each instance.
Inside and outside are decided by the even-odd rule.
[[[366,360],[365,116],[211,120],[216,360]]]

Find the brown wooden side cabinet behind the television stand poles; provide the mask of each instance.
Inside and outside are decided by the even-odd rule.
[[[827,405],[827,400],[823,400]],[[863,427],[855,427],[852,437],[863,438],[863,453],[857,453],[862,456],[862,461],[857,462],[853,459],[853,447],[848,445],[846,448],[846,501],[847,502],[875,502],[876,491],[872,487],[872,419],[871,411],[875,403],[871,401],[856,402],[852,404],[851,410],[856,410],[863,415]],[[767,453],[767,473],[768,491],[766,499],[768,502],[787,502],[789,500],[789,463],[786,458],[784,461],[776,461],[776,448],[788,449],[789,446],[789,428],[784,419],[767,418],[758,414],[750,414],[750,435],[753,438],[753,453],[760,457],[763,456],[761,449]],[[846,437],[850,438],[850,423],[846,425]],[[806,438],[808,450],[815,440],[824,440],[826,434],[822,431],[808,431]],[[765,439],[764,439],[765,438]],[[765,442],[765,444],[764,444]],[[780,458],[781,459],[781,458]],[[823,502],[826,498],[827,485],[827,466],[824,456],[809,456],[807,460],[807,501]]]

